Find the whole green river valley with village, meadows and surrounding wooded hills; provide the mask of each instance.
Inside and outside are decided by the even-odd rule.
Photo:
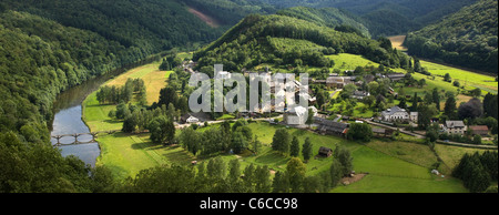
[[[497,193],[496,17],[493,0],[2,1],[0,193]],[[205,96],[234,85],[192,79],[235,73],[267,75],[273,102],[217,112]]]

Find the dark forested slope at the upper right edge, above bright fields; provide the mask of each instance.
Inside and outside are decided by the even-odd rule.
[[[497,73],[498,2],[480,0],[441,22],[409,33],[410,54]]]

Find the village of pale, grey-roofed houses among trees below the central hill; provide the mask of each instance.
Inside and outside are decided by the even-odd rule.
[[[196,63],[193,61],[184,61],[182,63],[183,70],[191,74],[197,72],[193,70],[195,65]],[[411,106],[409,108],[407,105],[407,101],[414,100],[414,96],[406,95],[405,93],[399,95],[399,93],[394,90],[397,84],[404,84],[404,82],[407,82],[408,79],[413,79],[408,73],[397,73],[389,70],[381,70],[373,72],[373,74],[354,75],[357,73],[356,71],[345,70],[343,71],[344,75],[338,73],[328,73],[326,79],[308,78],[305,81],[307,81],[309,85],[306,86],[304,86],[301,82],[304,80],[293,80],[292,82],[286,82],[285,79],[293,73],[286,73],[286,75],[279,76],[279,79],[283,80],[273,80],[273,73],[268,68],[265,68],[265,71],[257,72],[243,70],[242,73],[247,78],[247,80],[251,80],[249,76],[253,75],[264,76],[262,81],[269,83],[271,91],[267,92],[267,94],[272,94],[272,100],[269,104],[258,104],[257,106],[251,109],[247,113],[234,114],[234,119],[243,117],[246,120],[265,120],[271,124],[282,124],[297,129],[310,130],[323,135],[336,135],[345,139],[352,123],[369,124],[371,126],[373,135],[378,137],[390,137],[395,133],[404,133],[417,139],[428,137],[426,132],[427,127],[421,127],[420,123],[418,123],[418,119],[420,117],[418,110],[414,110]],[[214,79],[231,79],[231,73],[226,71],[218,72],[214,74]],[[369,84],[373,82],[375,82],[373,85],[377,85],[377,83],[385,83],[386,94],[371,94],[373,89],[369,88]],[[281,85],[277,86],[276,83]],[[291,89],[294,89],[294,92],[289,93],[285,91],[285,89],[289,89],[289,86],[292,86]],[[277,92],[276,89],[278,89]],[[297,105],[288,109],[288,106],[293,105],[289,105],[287,101],[276,103],[275,98],[289,98],[289,94],[295,95],[295,103],[297,103],[299,99],[305,99],[307,100],[309,106],[304,108]],[[326,94],[327,98],[324,98],[324,94]],[[318,96],[322,98],[318,99]],[[374,112],[367,117],[365,114],[356,115],[356,112],[352,111],[348,112],[340,110],[335,112],[332,109],[327,109],[327,105],[330,105],[330,103],[327,102],[334,102],[335,98],[336,101],[342,100],[337,98],[343,98],[344,101],[354,101],[353,103],[367,103],[368,106],[375,105],[375,103],[381,103],[380,106],[384,108],[377,109],[379,110],[378,112]],[[418,99],[418,102],[421,102],[421,99]],[[318,100],[322,100],[323,102],[319,102]],[[385,102],[385,100],[390,100],[391,102]],[[293,103],[293,101],[291,103]],[[284,110],[284,112],[282,110]],[[365,112],[365,110],[363,111]],[[480,136],[481,140],[491,140],[492,127],[488,125],[467,125],[467,123],[462,120],[442,121],[436,116],[439,114],[440,111],[432,115],[425,116],[430,123],[426,126],[438,124],[438,136],[470,136],[471,139],[475,136]],[[203,113],[189,113],[182,119],[182,123],[187,125],[202,125],[204,122],[221,122],[208,120]],[[471,145],[462,141],[450,141],[448,139],[432,141],[441,144],[454,144],[459,146],[488,147],[487,145]],[[325,149],[325,151],[328,150],[330,151],[330,149]]]

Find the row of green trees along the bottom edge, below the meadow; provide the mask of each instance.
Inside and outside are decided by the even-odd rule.
[[[338,146],[329,171],[306,176],[306,164],[292,157],[285,171],[273,171],[266,165],[249,164],[241,170],[238,158],[220,156],[192,166],[170,165],[141,171],[129,177],[120,192],[145,193],[326,193],[352,172],[348,150]],[[275,173],[271,180],[271,171]],[[155,186],[150,186],[155,184]]]

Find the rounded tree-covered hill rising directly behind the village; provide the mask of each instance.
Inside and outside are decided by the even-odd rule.
[[[215,63],[233,72],[261,64],[323,68],[332,63],[324,55],[336,53],[361,54],[387,66],[408,65],[408,58],[385,38],[371,40],[285,16],[248,16],[217,41],[196,51],[194,59],[201,72],[213,73]]]

